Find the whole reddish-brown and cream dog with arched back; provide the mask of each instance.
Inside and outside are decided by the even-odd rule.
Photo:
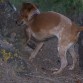
[[[29,37],[27,42],[30,41],[31,36],[40,41],[31,53],[29,60],[33,60],[36,57],[45,39],[56,36],[58,38],[61,67],[58,71],[54,71],[53,74],[60,73],[67,66],[66,53],[68,50],[73,60],[73,64],[69,69],[74,69],[77,62],[74,45],[78,39],[79,32],[83,31],[83,27],[76,25],[69,18],[57,12],[48,11],[40,13],[37,6],[33,3],[23,3],[17,24],[27,25],[26,34]]]

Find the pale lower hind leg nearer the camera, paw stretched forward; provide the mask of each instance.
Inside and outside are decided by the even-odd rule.
[[[54,71],[53,74],[59,74],[67,66],[66,51],[67,50],[64,46],[59,48],[59,57],[61,59],[61,67],[58,71]]]

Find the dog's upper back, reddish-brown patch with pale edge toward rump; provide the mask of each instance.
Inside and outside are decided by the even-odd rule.
[[[50,30],[60,25],[64,27],[65,25],[72,25],[72,22],[69,18],[56,12],[40,13],[34,16],[33,21],[30,22],[30,26],[35,32],[41,29]]]

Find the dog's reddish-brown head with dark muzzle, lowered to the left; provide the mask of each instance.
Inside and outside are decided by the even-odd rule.
[[[36,13],[40,13],[39,10],[37,9],[36,5],[34,5],[32,3],[23,3],[22,8],[20,10],[20,15],[19,15],[16,23],[18,25],[25,24]]]

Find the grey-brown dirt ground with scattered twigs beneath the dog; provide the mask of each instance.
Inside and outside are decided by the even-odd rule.
[[[49,40],[44,44],[36,58],[32,61],[28,61],[31,49],[27,46],[19,45],[20,48],[13,55],[15,50],[13,45],[6,41],[0,41],[1,48],[1,60],[0,60],[0,83],[80,83],[83,81],[83,71],[80,70],[78,64],[75,70],[69,71],[68,67],[71,65],[71,57],[68,57],[68,67],[59,75],[53,75],[50,71],[51,68],[57,68],[60,66],[60,60],[57,57],[57,38]],[[23,43],[22,43],[23,44]],[[2,50],[4,47],[9,47],[5,50],[4,54]],[[7,53],[11,52],[11,56]],[[6,59],[6,58],[8,59]]]

